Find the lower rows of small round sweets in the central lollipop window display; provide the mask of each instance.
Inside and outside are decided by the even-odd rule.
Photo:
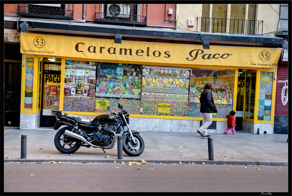
[[[188,90],[142,88],[141,100],[188,101]]]

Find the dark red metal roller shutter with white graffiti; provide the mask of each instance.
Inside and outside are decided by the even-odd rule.
[[[275,115],[288,115],[288,66],[281,66],[277,78]]]

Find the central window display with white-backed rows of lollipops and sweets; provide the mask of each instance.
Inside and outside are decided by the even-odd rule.
[[[191,68],[142,65],[141,100],[187,102]]]

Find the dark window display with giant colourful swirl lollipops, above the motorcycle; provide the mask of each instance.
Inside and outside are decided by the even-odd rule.
[[[96,97],[140,99],[142,67],[137,64],[102,63],[96,71]]]

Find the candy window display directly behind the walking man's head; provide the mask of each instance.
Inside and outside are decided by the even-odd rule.
[[[211,83],[214,103],[232,105],[235,70],[193,68],[191,72],[189,103],[200,103],[201,92]]]

